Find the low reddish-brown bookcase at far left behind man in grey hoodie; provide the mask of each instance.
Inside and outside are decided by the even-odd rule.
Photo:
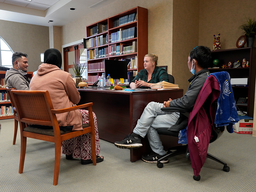
[[[5,73],[6,73],[6,71],[0,71],[0,79],[1,79],[1,80],[5,79]],[[28,72],[28,74],[26,75],[26,77],[27,77],[27,78],[32,78],[32,77],[33,77],[33,72]],[[6,84],[5,84],[5,85],[6,85]],[[2,93],[2,95],[6,93],[6,88],[4,87],[5,85],[2,84],[2,82],[1,82],[0,93]],[[3,87],[2,87],[2,86],[3,86]],[[7,95],[7,93],[6,93],[5,95]],[[4,97],[3,97],[3,98],[4,98]],[[8,96],[5,96],[6,101],[4,101],[4,100],[2,100],[2,98],[0,98],[0,100],[1,100],[1,102],[0,102],[0,108],[2,108],[3,106],[5,106],[6,108],[12,106],[11,101],[10,101],[10,100],[8,101],[7,98],[8,98]],[[13,115],[0,116],[0,120],[1,120],[1,119],[11,119],[11,118],[14,118],[14,116],[13,116]]]

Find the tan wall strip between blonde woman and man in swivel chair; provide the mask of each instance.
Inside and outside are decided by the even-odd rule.
[[[184,93],[192,76],[188,69],[188,55],[198,45],[198,24],[199,0],[173,1],[172,75]]]

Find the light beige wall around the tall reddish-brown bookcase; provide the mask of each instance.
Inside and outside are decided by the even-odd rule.
[[[136,6],[148,9],[148,52],[158,55],[158,65],[167,65],[172,74],[173,0],[117,0],[63,26],[63,44],[86,37],[86,26]],[[100,14],[99,14],[100,13]]]

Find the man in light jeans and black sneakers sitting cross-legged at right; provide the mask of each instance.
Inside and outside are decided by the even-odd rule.
[[[152,153],[143,155],[142,160],[148,163],[157,163],[157,159],[166,155],[164,147],[157,133],[157,129],[166,128],[169,131],[180,132],[188,125],[188,118],[176,112],[162,111],[162,107],[178,107],[192,111],[197,96],[202,89],[209,73],[209,66],[212,62],[211,50],[208,47],[197,46],[193,48],[188,56],[188,69],[193,76],[188,79],[188,90],[179,99],[169,99],[164,103],[150,102],[145,107],[133,133],[129,134],[122,141],[115,142],[118,148],[139,148],[142,146],[140,139],[148,136]],[[161,161],[168,163],[168,159]]]

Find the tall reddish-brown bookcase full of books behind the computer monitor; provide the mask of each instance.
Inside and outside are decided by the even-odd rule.
[[[148,10],[135,7],[86,26],[84,44],[87,48],[89,85],[97,81],[98,77],[104,73],[104,59],[132,60],[137,58],[137,65],[135,65],[137,67],[128,69],[128,71],[138,73],[144,68],[144,56],[148,53]],[[113,48],[119,46],[128,50],[128,53],[120,52],[116,55],[116,49]]]

